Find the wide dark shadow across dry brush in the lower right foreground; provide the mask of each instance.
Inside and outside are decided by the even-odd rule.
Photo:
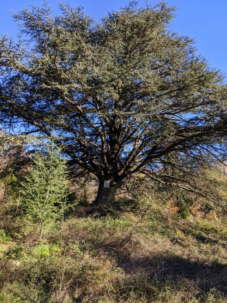
[[[187,279],[202,291],[216,288],[227,296],[227,268],[218,262],[205,265],[176,255],[151,255],[150,258],[121,260],[119,266],[126,273],[145,271],[151,279],[162,282],[167,279],[176,282]]]

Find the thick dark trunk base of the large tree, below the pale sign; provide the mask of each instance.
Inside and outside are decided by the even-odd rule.
[[[98,187],[98,193],[95,200],[97,205],[113,205],[116,195],[116,186],[110,183],[110,188],[104,188],[104,180],[101,180]]]

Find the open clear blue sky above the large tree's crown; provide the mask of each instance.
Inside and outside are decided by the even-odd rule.
[[[7,10],[29,7],[43,0],[1,0],[0,33],[16,35],[17,28]],[[58,2],[49,0],[53,13],[58,14]],[[118,9],[128,3],[126,0],[68,0],[71,5],[82,4],[89,15],[99,18],[112,8]],[[211,67],[227,73],[227,0],[169,0],[176,5],[178,15],[171,26],[173,31],[196,39],[198,53],[205,56]],[[141,2],[143,3],[143,2]],[[156,3],[156,1],[152,1]]]

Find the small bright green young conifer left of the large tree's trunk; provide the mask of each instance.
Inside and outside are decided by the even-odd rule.
[[[36,152],[34,166],[25,177],[21,188],[21,206],[34,223],[43,227],[63,220],[67,210],[69,193],[66,161],[61,157],[61,148],[52,142],[44,152]]]

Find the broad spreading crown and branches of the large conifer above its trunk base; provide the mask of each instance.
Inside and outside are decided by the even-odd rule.
[[[1,37],[2,125],[54,134],[99,179],[100,201],[138,174],[203,194],[199,166],[226,157],[227,88],[193,39],[169,31],[175,8],[130,2],[95,21],[59,7],[13,13],[18,41]]]

